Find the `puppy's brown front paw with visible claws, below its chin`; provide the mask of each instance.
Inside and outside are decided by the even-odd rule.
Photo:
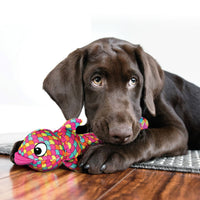
[[[79,162],[79,167],[90,174],[114,173],[129,166],[123,146],[111,144],[90,146]]]

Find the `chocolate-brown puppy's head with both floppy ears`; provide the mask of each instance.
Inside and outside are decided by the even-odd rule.
[[[164,73],[139,45],[104,38],[72,52],[44,80],[66,119],[85,106],[88,124],[104,142],[127,144],[140,132],[146,107],[156,115]]]

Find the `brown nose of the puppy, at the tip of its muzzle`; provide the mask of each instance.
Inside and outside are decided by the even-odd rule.
[[[130,126],[118,126],[109,128],[109,134],[112,143],[123,144],[129,142],[133,131]]]

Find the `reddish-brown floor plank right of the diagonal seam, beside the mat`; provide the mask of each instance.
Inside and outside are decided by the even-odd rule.
[[[135,170],[107,191],[102,199],[200,199],[200,175]]]

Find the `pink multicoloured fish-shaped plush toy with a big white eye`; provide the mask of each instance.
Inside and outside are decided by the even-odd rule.
[[[14,155],[17,165],[28,165],[37,171],[49,171],[64,164],[78,170],[78,156],[90,145],[102,143],[94,133],[76,134],[81,119],[70,119],[60,129],[52,132],[39,129],[26,136]],[[140,127],[148,128],[148,121],[140,119]]]

